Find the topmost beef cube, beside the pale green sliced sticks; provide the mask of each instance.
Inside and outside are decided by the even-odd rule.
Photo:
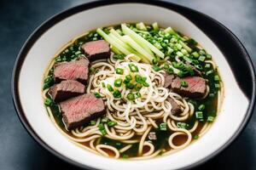
[[[105,40],[86,42],[81,48],[90,60],[107,59],[111,54],[109,43]]]

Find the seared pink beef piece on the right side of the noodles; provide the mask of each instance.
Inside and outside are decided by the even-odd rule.
[[[181,82],[188,82],[188,87],[181,86]],[[207,82],[202,77],[175,77],[172,79],[171,89],[177,94],[191,98],[201,98],[207,93]]]

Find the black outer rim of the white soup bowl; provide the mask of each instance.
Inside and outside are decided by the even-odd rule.
[[[44,146],[44,148],[46,150],[49,150],[49,152],[51,152],[55,156],[58,156],[62,160],[67,161],[75,166],[88,168],[88,166],[86,166],[84,164],[73,161],[70,158],[68,158],[67,156],[61,155],[61,153],[57,152],[56,150],[51,148],[48,144],[44,143],[44,141],[38,137],[38,134],[33,131],[32,126],[26,120],[26,116],[24,114],[24,111],[22,110],[22,105],[20,104],[20,94],[19,94],[19,87],[18,87],[18,84],[19,84],[18,82],[19,82],[19,78],[20,78],[20,69],[22,67],[22,64],[23,64],[25,58],[26,58],[26,54],[29,52],[30,48],[32,48],[32,45],[35,42],[37,42],[38,38],[45,31],[47,31],[51,26],[54,26],[59,21],[65,19],[68,16],[71,16],[73,14],[77,14],[81,11],[84,11],[84,10],[87,10],[90,8],[111,5],[114,3],[145,3],[145,4],[149,4],[149,5],[159,6],[162,8],[171,9],[179,14],[182,14],[186,18],[188,18],[190,21],[192,21],[195,24],[195,26],[201,25],[200,29],[202,31],[204,31],[207,34],[207,36],[210,38],[212,38],[214,31],[212,33],[212,30],[207,29],[206,26],[207,26],[207,23],[208,24],[213,23],[215,26],[217,26],[216,28],[218,28],[219,31],[221,31],[227,38],[230,38],[230,40],[232,40],[232,42],[234,43],[233,45],[235,45],[238,48],[239,52],[241,53],[241,56],[243,57],[243,59],[241,59],[241,57],[239,59],[241,59],[243,61],[243,64],[244,64],[243,66],[248,71],[247,78],[249,78],[249,80],[250,80],[250,83],[247,83],[250,85],[246,86],[246,87],[241,85],[240,83],[238,83],[240,88],[243,88],[244,94],[247,95],[247,98],[250,101],[249,106],[247,108],[247,114],[244,117],[243,121],[241,122],[241,126],[239,127],[239,129],[232,136],[232,138],[230,138],[224,145],[222,145],[218,150],[213,152],[211,155],[205,157],[201,161],[197,161],[197,162],[195,162],[187,167],[183,167],[183,168],[196,167],[198,165],[201,165],[203,162],[210,160],[213,156],[218,155],[218,153],[220,153],[222,150],[226,149],[227,146],[229,146],[238,137],[238,135],[246,127],[247,122],[249,121],[250,117],[252,116],[253,107],[254,107],[254,103],[255,103],[255,94],[256,94],[255,71],[253,68],[252,60],[249,58],[249,55],[247,54],[246,49],[243,47],[243,45],[241,44],[239,39],[229,29],[227,29],[225,26],[220,24],[217,20],[214,20],[211,17],[207,16],[206,14],[202,14],[194,9],[186,8],[181,5],[177,5],[175,3],[167,3],[167,2],[163,2],[163,1],[157,1],[157,0],[148,1],[147,3],[146,3],[146,1],[143,1],[143,0],[123,0],[123,1],[113,0],[113,1],[96,1],[96,2],[91,2],[91,3],[84,3],[84,4],[78,5],[73,8],[68,8],[59,14],[55,14],[55,16],[51,17],[49,20],[46,20],[41,26],[38,26],[38,28],[32,32],[32,35],[30,37],[28,37],[25,44],[20,49],[20,53],[18,54],[18,57],[15,61],[15,66],[14,66],[13,74],[12,74],[12,83],[11,83],[12,97],[13,97],[13,102],[15,105],[15,110],[20,118],[20,122],[22,122],[23,126],[26,128],[26,130],[32,136],[32,138],[35,139],[39,144]],[[199,20],[199,17],[201,20]],[[202,26],[201,22],[205,22],[203,24],[203,25],[205,25],[205,27]],[[213,40],[213,42],[215,42],[215,41]],[[219,46],[218,46],[218,48],[219,48]],[[220,50],[222,51],[221,48],[220,48]],[[227,60],[229,60],[229,59],[227,59]],[[230,63],[232,63],[232,61],[229,60],[229,65],[230,65]],[[232,71],[237,73],[237,71],[235,71],[237,69],[233,68],[232,65],[230,65],[230,66],[231,66]],[[241,78],[241,76],[240,76],[240,78]],[[237,81],[237,82],[239,82],[239,81]],[[90,168],[94,168],[94,167],[90,167]]]

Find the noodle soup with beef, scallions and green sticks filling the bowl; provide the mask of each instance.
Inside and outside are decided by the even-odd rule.
[[[171,154],[200,139],[217,116],[222,91],[212,55],[157,23],[74,38],[52,60],[43,85],[44,105],[61,133],[86,150],[122,159]]]

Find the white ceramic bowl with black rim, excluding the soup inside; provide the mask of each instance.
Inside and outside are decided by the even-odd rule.
[[[187,11],[187,13],[184,11]],[[15,106],[21,122],[26,126],[29,133],[46,149],[80,167],[117,170],[178,169],[194,167],[216,155],[236,138],[252,113],[255,95],[253,67],[245,49],[224,26],[219,25],[215,20],[203,14],[199,14],[204,17],[206,23],[210,20],[210,23],[218,25],[219,29],[224,29],[226,31],[224,33],[225,36],[229,32],[230,35],[228,37],[232,39],[233,43],[240,45],[238,50],[243,56],[235,57],[234,61],[231,62],[228,62],[230,60],[229,54],[223,54],[228,48],[225,47],[221,51],[217,46],[218,44],[212,42],[211,33],[209,37],[206,32],[201,30],[203,28],[209,31],[209,28],[206,29],[202,24],[195,25],[190,21],[195,20],[195,18],[189,19],[189,13],[191,15],[199,14],[191,9],[171,3],[114,4],[97,2],[71,8],[51,18],[27,40],[15,65],[12,85]],[[173,155],[160,156],[145,161],[122,161],[97,156],[73,144],[50,121],[45,111],[41,94],[44,71],[53,55],[73,37],[97,27],[139,21],[146,23],[157,21],[160,26],[172,26],[177,31],[195,38],[197,42],[207,49],[209,54],[212,54],[224,82],[222,109],[210,130],[201,139]],[[251,86],[239,86],[236,82],[242,79],[241,76],[237,78],[237,75],[234,74],[237,72],[237,64],[234,64],[236,61],[244,63],[247,74],[249,74],[250,79],[242,83],[251,84]],[[230,65],[232,65],[232,69]],[[244,88],[245,86],[247,88]]]

